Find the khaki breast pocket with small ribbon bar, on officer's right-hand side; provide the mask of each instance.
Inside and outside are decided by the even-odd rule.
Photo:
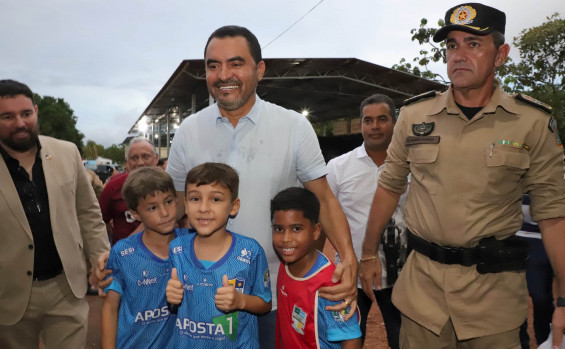
[[[504,200],[518,189],[518,183],[530,168],[528,151],[495,144],[485,150],[487,164],[487,195]],[[507,197],[506,197],[507,198]]]

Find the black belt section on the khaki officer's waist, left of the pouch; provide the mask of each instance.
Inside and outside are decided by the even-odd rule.
[[[470,267],[478,263],[477,249],[474,247],[440,246],[406,229],[408,248],[427,256],[429,259],[442,264],[460,264]]]

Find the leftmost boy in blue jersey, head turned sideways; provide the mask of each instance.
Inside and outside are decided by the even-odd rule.
[[[142,167],[128,176],[122,196],[145,230],[118,241],[110,252],[114,280],[102,307],[102,348],[170,348],[176,317],[165,296],[169,243],[188,234],[175,228],[175,187],[162,169]]]

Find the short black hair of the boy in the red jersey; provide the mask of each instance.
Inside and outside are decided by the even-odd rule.
[[[271,221],[276,211],[300,211],[312,225],[318,224],[320,201],[314,193],[300,187],[287,188],[271,200]]]

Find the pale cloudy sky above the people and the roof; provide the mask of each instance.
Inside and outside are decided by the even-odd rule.
[[[264,58],[352,57],[391,67],[403,57],[418,55],[410,30],[422,18],[435,26],[460,0],[1,3],[0,79],[18,80],[42,96],[63,98],[78,117],[85,142],[110,146],[127,137],[184,59],[203,58],[208,36],[223,25],[249,28],[264,47]],[[563,0],[483,3],[506,13],[510,44],[521,30],[542,24],[555,12],[565,17]],[[514,48],[510,56],[519,59]],[[444,69],[433,67],[438,73]]]

